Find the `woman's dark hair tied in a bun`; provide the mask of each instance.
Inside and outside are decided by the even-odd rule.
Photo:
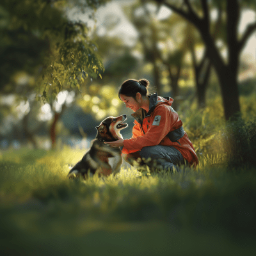
[[[141,96],[146,96],[148,93],[148,86],[149,82],[147,79],[128,79],[120,86],[118,97],[120,99],[120,94],[123,94],[127,97],[132,97],[135,99],[137,92],[139,92]]]

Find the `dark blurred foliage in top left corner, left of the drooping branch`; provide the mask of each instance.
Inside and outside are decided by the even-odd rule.
[[[1,83],[3,92],[13,92],[10,83],[15,72],[34,74],[49,50],[44,32],[63,22],[61,12],[46,1],[3,0],[1,10]],[[7,87],[7,88],[6,88]],[[15,87],[14,87],[15,88]]]

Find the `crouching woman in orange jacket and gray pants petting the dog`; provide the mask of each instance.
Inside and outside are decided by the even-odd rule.
[[[120,86],[119,98],[131,108],[135,118],[132,138],[108,142],[111,147],[123,147],[125,161],[151,157],[164,170],[180,164],[198,164],[198,157],[178,114],[172,108],[173,99],[148,95],[147,79],[129,79]],[[130,161],[129,161],[130,160]],[[179,168],[177,168],[179,169]]]

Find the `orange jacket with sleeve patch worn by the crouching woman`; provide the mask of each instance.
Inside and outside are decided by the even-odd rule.
[[[163,145],[172,146],[180,151],[190,165],[198,164],[195,149],[182,127],[178,114],[172,108],[172,98],[163,98],[157,94],[150,95],[149,111],[138,109],[132,138],[124,140],[122,152],[129,154],[143,147]]]

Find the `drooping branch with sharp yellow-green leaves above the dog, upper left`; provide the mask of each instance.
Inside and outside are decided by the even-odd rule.
[[[80,91],[88,76],[102,77],[100,72],[104,71],[102,61],[96,52],[97,45],[90,42],[85,24],[68,21],[61,29],[65,40],[56,42],[56,54],[52,56],[54,58],[47,60],[49,62],[43,72],[44,100],[48,100],[48,94],[55,98],[63,89]]]

